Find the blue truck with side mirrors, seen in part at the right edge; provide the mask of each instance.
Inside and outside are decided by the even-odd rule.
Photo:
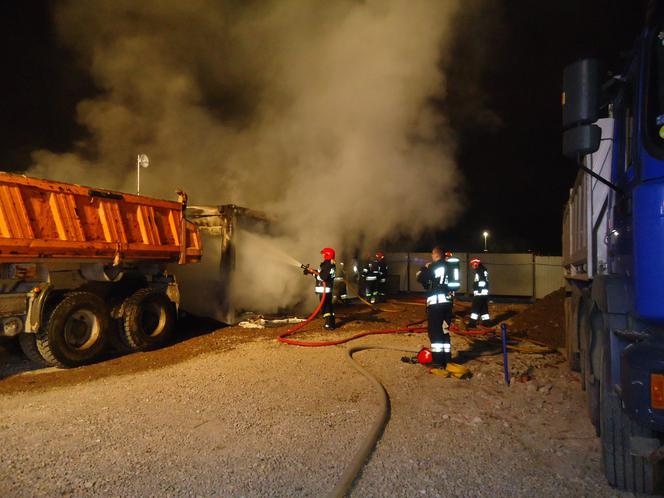
[[[662,492],[664,15],[652,9],[623,73],[563,74],[563,154],[580,171],[563,220],[566,336],[609,483]]]

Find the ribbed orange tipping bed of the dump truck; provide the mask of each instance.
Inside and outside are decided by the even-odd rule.
[[[42,258],[196,262],[182,202],[0,172],[0,262]]]

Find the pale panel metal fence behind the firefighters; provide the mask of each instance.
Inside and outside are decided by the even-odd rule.
[[[472,291],[473,270],[468,261],[478,257],[489,271],[491,294],[540,299],[564,285],[560,256],[536,256],[530,253],[454,253],[461,262],[460,293]],[[385,255],[390,284],[401,292],[423,292],[416,275],[431,261],[424,252],[392,252]]]

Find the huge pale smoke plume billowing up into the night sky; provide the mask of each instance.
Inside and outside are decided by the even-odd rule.
[[[99,93],[77,107],[87,137],[67,154],[34,152],[29,174],[132,192],[136,154],[146,153],[142,194],[182,188],[191,204],[265,210],[287,235],[280,246],[309,262],[324,246],[375,247],[445,228],[460,210],[460,178],[432,101],[445,97],[440,67],[457,8],[63,1],[61,40]],[[269,268],[280,279],[294,271],[278,266],[238,278],[267,283]],[[269,287],[263,308],[302,295],[299,285]]]

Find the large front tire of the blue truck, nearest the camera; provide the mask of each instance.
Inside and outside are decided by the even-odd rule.
[[[633,493],[662,491],[662,465],[648,457],[634,456],[632,437],[654,438],[656,434],[632,421],[622,410],[622,401],[609,380],[609,354],[602,352],[601,441],[602,468],[611,486]]]

